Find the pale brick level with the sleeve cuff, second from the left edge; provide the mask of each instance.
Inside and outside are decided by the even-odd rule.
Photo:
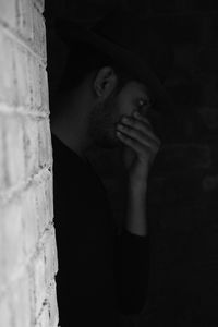
[[[35,202],[36,186],[32,185],[23,194],[22,220],[24,249],[26,255],[34,253],[38,240],[37,211]]]

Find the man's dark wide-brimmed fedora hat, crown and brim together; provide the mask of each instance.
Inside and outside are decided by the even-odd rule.
[[[155,109],[166,113],[173,112],[173,101],[158,73],[154,71],[153,63],[148,61],[148,57],[153,56],[146,44],[146,31],[137,17],[117,11],[92,27],[58,19],[56,31],[69,47],[75,40],[87,43],[114,59],[131,76],[147,86],[155,100]]]

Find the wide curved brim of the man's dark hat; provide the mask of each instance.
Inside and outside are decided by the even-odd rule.
[[[56,22],[56,31],[59,37],[69,46],[72,46],[75,40],[81,40],[95,46],[96,49],[104,51],[117,62],[120,62],[135,80],[148,87],[155,100],[155,108],[158,109],[158,111],[160,110],[166,113],[173,112],[172,98],[155,72],[149,68],[146,60],[136,56],[133,51],[73,22],[58,20]]]

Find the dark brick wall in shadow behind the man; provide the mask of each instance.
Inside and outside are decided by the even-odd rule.
[[[218,326],[218,1],[47,0],[50,95],[66,49],[57,17],[94,26],[122,7],[138,16],[157,53],[156,72],[174,99],[148,183],[152,238],[149,295],[134,326]],[[129,31],[131,33],[131,29]],[[111,195],[120,221],[122,169],[116,150],[89,158]]]

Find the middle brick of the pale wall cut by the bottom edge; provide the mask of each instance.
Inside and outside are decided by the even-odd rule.
[[[32,326],[32,313],[29,303],[29,277],[27,271],[19,279],[10,290],[10,302],[13,313],[14,327]]]

